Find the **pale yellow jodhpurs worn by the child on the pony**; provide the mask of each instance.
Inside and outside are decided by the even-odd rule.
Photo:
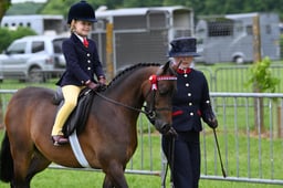
[[[63,135],[62,127],[64,126],[64,123],[66,122],[69,115],[75,108],[77,103],[77,97],[82,88],[84,87],[76,86],[76,85],[65,85],[62,87],[64,104],[57,112],[55,123],[53,125],[53,129],[51,133],[52,136]]]

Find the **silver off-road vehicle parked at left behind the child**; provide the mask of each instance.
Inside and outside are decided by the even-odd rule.
[[[0,80],[43,82],[44,72],[65,66],[62,54],[64,36],[34,35],[13,41],[0,54]]]

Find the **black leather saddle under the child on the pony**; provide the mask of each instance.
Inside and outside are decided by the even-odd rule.
[[[63,126],[62,132],[65,137],[69,137],[75,129],[77,134],[80,134],[84,129],[92,106],[94,94],[95,93],[87,87],[82,90],[77,98],[76,107],[70,114]],[[61,87],[59,87],[55,92],[52,102],[53,104],[59,105],[57,111],[64,104],[64,97]]]

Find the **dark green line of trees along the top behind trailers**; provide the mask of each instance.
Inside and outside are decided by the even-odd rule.
[[[40,13],[66,15],[71,4],[77,0],[49,0]],[[283,20],[283,1],[269,0],[87,0],[94,9],[106,6],[108,9],[154,6],[185,6],[191,8],[198,15],[247,13],[247,12],[275,12]]]

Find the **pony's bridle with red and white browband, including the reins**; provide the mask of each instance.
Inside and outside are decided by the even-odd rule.
[[[158,81],[176,81],[177,77],[176,76],[172,76],[172,75],[156,75],[156,74],[153,74],[149,76],[149,81],[150,81],[150,84],[151,84],[151,87],[150,90],[148,91],[147,95],[146,95],[146,98],[148,97],[148,95],[151,93],[151,100],[150,100],[150,103],[149,105],[147,106],[143,106],[145,109],[140,109],[140,108],[137,108],[137,107],[133,107],[133,106],[129,106],[127,104],[124,104],[124,103],[120,103],[120,102],[117,102],[115,100],[112,100],[103,94],[101,94],[99,92],[97,91],[94,91],[95,94],[99,97],[102,97],[103,100],[107,101],[107,102],[111,102],[113,104],[116,104],[116,105],[119,105],[119,106],[123,106],[123,107],[126,107],[128,109],[132,109],[132,111],[136,111],[138,113],[143,113],[145,114],[148,119],[153,123],[155,122],[155,118],[156,118],[156,112],[157,111],[171,111],[170,107],[163,107],[163,108],[156,108],[155,107],[155,101],[156,101],[156,92],[158,90]]]

